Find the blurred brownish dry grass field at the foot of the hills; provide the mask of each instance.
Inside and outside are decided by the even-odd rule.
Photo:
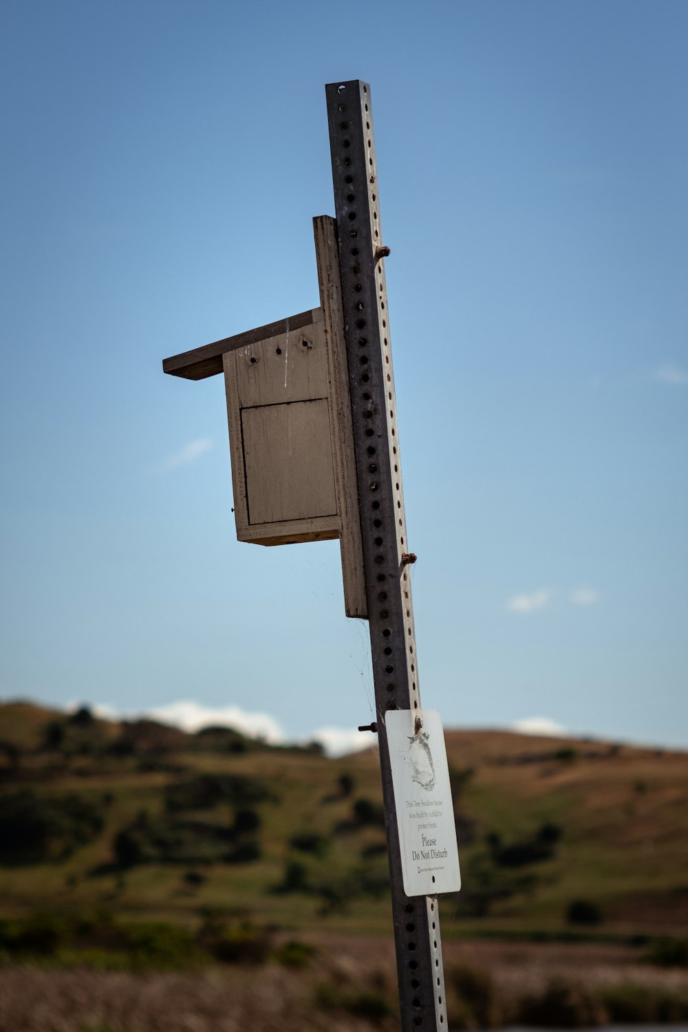
[[[388,940],[325,937],[316,948],[298,969],[268,964],[139,975],[8,968],[0,971],[0,1032],[398,1028]],[[628,947],[452,942],[446,968],[450,1029],[688,1020],[686,973],[648,967]]]

